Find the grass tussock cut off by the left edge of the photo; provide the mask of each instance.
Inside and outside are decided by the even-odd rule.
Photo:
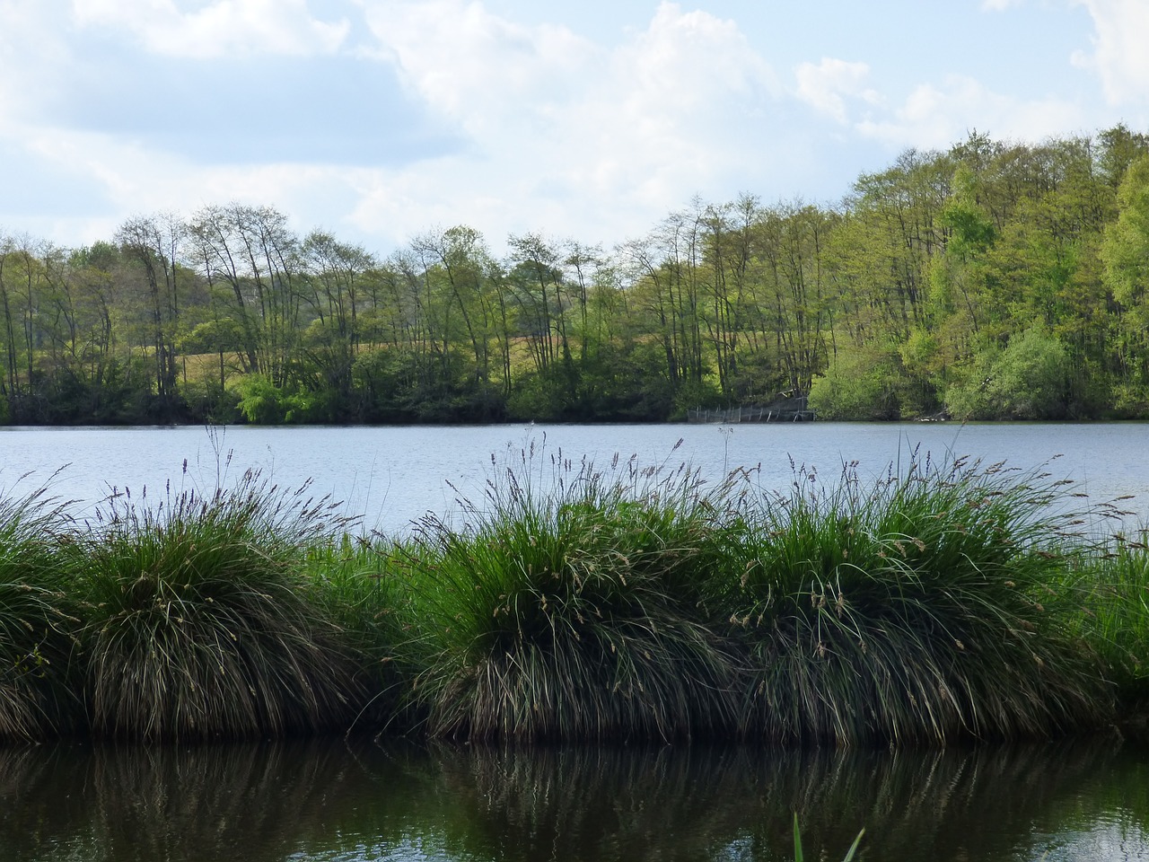
[[[0,741],[68,730],[77,618],[59,542],[63,506],[41,487],[0,499]]]

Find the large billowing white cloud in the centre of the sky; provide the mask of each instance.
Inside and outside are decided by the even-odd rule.
[[[733,22],[662,3],[608,52],[479,2],[364,7],[379,55],[470,138],[433,164],[377,174],[355,215],[364,229],[409,225],[414,211],[488,225],[493,240],[586,224],[618,239],[692,192],[753,183],[747,166],[768,153],[757,129],[779,91]]]

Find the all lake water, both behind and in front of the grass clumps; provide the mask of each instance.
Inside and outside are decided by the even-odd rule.
[[[162,500],[248,468],[310,482],[363,529],[462,517],[507,465],[546,483],[555,461],[618,454],[708,480],[756,468],[786,491],[792,461],[833,483],[911,454],[1046,469],[1088,500],[1149,521],[1149,425],[882,424],[475,428],[0,429],[0,487],[48,484],[88,517],[109,493]],[[1149,859],[1149,752],[1055,746],[789,752],[746,746],[486,749],[315,740],[229,746],[0,747],[0,860],[254,862],[1036,862]]]

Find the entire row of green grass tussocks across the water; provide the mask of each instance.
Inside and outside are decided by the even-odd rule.
[[[755,478],[524,453],[401,540],[254,475],[84,523],[9,495],[0,739],[942,745],[1106,729],[1149,691],[1149,551],[1066,487]]]

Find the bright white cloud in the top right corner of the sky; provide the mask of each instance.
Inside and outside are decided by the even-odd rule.
[[[1078,66],[1101,77],[1111,106],[1149,103],[1149,3],[1144,0],[1074,0],[1095,28],[1094,53],[1078,53]]]

